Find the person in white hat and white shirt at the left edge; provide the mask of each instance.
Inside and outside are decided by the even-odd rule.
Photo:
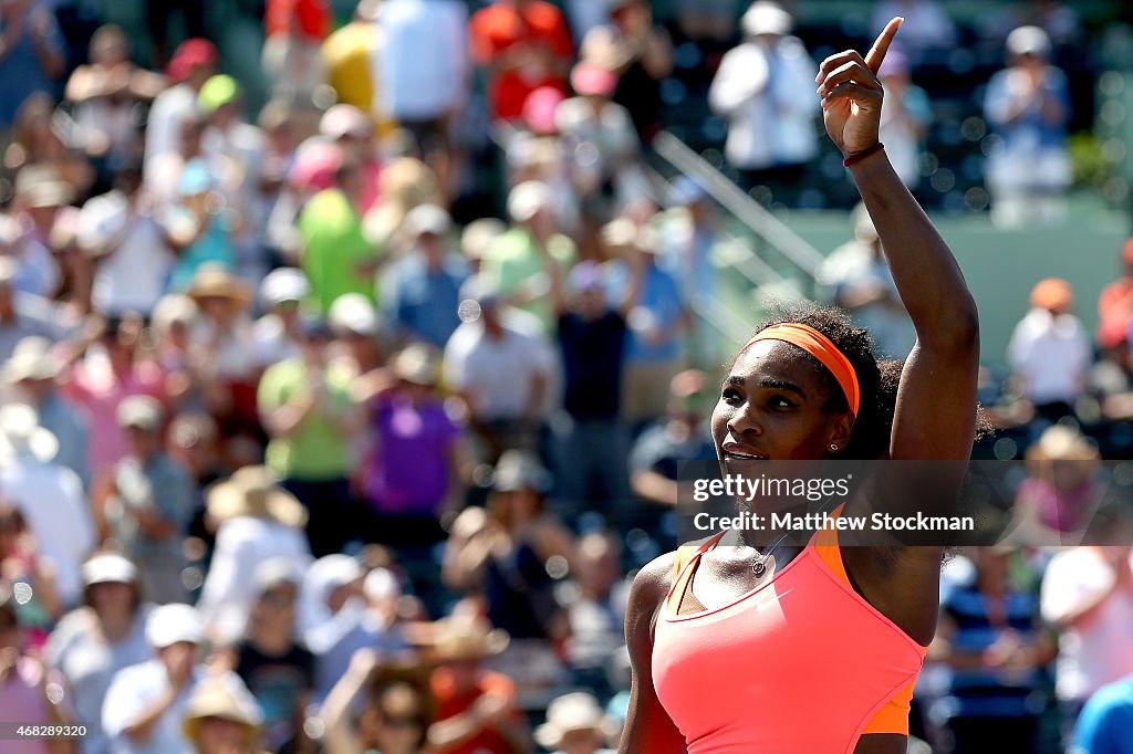
[[[63,605],[79,596],[79,564],[94,548],[94,524],[83,482],[54,463],[59,440],[39,426],[35,410],[23,403],[0,409],[0,489],[23,512],[40,552],[56,567]]]

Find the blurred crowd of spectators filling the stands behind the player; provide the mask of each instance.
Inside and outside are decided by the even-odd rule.
[[[680,462],[715,457],[727,357],[697,316],[722,213],[649,144],[675,41],[740,37],[699,63],[707,103],[743,188],[790,196],[820,148],[798,3],[662,24],[644,0],[361,0],[337,24],[267,0],[256,113],[198,3],[150,3],[146,51],[99,26],[80,60],[57,5],[0,3],[0,719],[86,735],[3,749],[616,748],[629,582],[674,543]],[[1080,31],[1026,5],[997,22],[987,87],[1008,223],[1055,216],[1068,183],[1051,60]],[[956,32],[940,3],[891,15],[911,23],[883,140],[915,188],[931,108],[911,80]],[[821,282],[902,357],[855,220]],[[1100,459],[1091,405],[1133,415],[1125,259],[1100,361],[1062,281],[1012,342],[995,420],[1036,462]],[[1076,531],[1037,469],[1031,523]],[[1128,556],[956,557],[915,732],[1058,742],[1133,672]]]

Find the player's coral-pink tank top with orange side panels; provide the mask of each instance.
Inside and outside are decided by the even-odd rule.
[[[678,566],[654,635],[654,686],[689,754],[852,753],[863,734],[908,734],[927,648],[854,591],[835,530],[731,603],[676,615],[722,535]]]

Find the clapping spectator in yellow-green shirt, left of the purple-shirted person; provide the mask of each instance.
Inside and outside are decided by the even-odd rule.
[[[307,508],[307,539],[315,557],[338,552],[352,538],[349,440],[356,429],[348,394],[350,370],[327,361],[331,332],[305,317],[298,359],[275,363],[259,379],[261,421],[271,438],[265,464]]]

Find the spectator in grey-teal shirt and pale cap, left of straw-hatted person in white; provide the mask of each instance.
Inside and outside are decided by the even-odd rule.
[[[184,602],[181,540],[194,513],[191,482],[162,449],[165,417],[157,401],[126,399],[117,419],[127,453],[92,494],[99,531],[138,566],[147,599]]]

